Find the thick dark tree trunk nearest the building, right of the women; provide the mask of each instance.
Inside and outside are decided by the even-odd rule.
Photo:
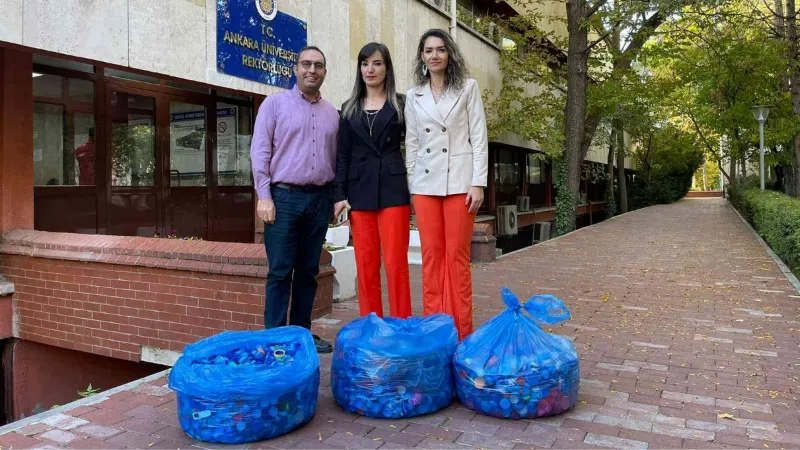
[[[565,179],[556,200],[556,231],[575,229],[575,210],[580,192],[582,149],[586,136],[586,88],[588,84],[588,30],[585,0],[566,0],[569,50],[567,53],[567,102],[564,108],[566,139],[563,164]],[[587,146],[588,147],[588,146]]]

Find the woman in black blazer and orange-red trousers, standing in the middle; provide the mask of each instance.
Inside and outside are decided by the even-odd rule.
[[[350,225],[358,270],[361,315],[383,316],[381,255],[393,317],[411,316],[408,277],[410,196],[400,152],[403,97],[395,89],[392,58],[371,42],[358,54],[353,93],[342,105],[336,157],[336,214],[352,208]]]

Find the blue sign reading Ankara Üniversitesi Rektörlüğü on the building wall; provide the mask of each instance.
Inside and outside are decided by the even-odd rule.
[[[306,22],[278,11],[277,0],[217,0],[217,71],[289,89]]]

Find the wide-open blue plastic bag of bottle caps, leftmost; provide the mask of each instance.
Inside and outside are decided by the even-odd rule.
[[[271,439],[316,412],[319,356],[305,328],[226,331],[186,346],[169,387],[177,393],[181,428],[192,438]]]

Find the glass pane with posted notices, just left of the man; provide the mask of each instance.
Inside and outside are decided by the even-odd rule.
[[[253,108],[217,102],[217,174],[220,186],[252,186]]]

